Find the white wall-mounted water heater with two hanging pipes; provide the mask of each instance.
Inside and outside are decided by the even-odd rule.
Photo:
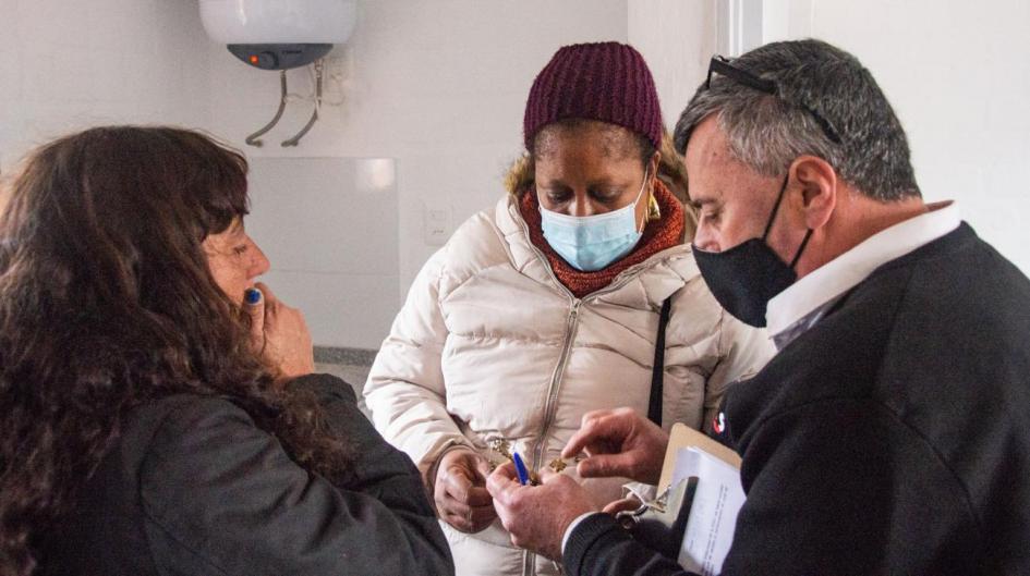
[[[334,45],[343,44],[358,21],[355,0],[199,0],[201,22],[207,35],[226,45],[250,66],[279,71],[279,110],[275,118],[246,137],[262,146],[259,136],[279,122],[287,105],[286,71],[312,66],[315,110],[307,124],[282,146],[296,146],[318,120],[322,106],[323,59]]]

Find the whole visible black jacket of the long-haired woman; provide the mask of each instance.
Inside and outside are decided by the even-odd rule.
[[[334,486],[298,466],[229,401],[192,394],[134,409],[72,515],[44,538],[63,576],[453,574],[411,461],[328,376],[302,378],[356,449]]]

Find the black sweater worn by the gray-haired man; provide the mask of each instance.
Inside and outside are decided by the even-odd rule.
[[[723,574],[1030,574],[1030,282],[966,224],[881,267],[726,397]],[[683,574],[594,516],[574,575]]]

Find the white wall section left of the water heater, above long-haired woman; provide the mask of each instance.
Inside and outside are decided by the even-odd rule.
[[[0,0],[0,170],[107,123],[207,124],[195,2]]]

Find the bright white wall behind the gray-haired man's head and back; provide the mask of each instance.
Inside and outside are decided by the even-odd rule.
[[[1030,273],[1030,2],[765,0],[764,12],[766,41],[815,37],[857,56],[901,119],[925,198],[957,200]]]

